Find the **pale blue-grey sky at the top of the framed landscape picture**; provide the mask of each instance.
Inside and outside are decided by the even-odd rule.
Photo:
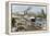
[[[12,5],[12,13],[16,13],[16,12],[23,13],[22,11],[25,11],[29,7],[30,10],[28,12],[38,13],[41,12],[41,10],[43,9],[46,13],[46,7],[37,7],[37,5]]]

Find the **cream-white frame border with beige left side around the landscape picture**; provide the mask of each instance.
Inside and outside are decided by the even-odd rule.
[[[8,33],[8,34],[11,34],[11,35],[13,35],[13,34],[37,34],[37,33],[46,33],[46,32],[48,32],[49,31],[49,25],[47,25],[47,29],[46,31],[32,31],[32,32],[15,32],[15,33],[11,33],[11,5],[12,4],[35,4],[35,5],[46,5],[46,12],[48,11],[48,3],[40,3],[40,2],[17,2],[17,1],[9,1],[9,2],[7,2],[7,7],[5,7],[5,33]],[[47,15],[48,15],[48,12],[47,12]],[[48,16],[47,16],[47,24],[48,24]]]

